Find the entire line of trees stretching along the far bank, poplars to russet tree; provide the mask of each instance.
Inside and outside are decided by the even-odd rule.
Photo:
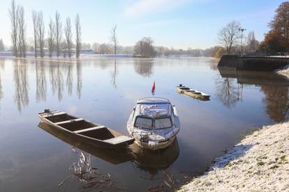
[[[50,18],[47,28],[47,38],[45,38],[45,24],[42,11],[32,11],[32,22],[34,26],[34,43],[27,47],[26,24],[24,21],[24,8],[17,6],[15,0],[11,1],[9,9],[11,21],[11,40],[13,44],[13,56],[26,56],[27,49],[34,50],[34,55],[45,56],[45,45],[49,56],[54,53],[59,57],[71,57],[73,49],[75,56],[80,56],[80,49],[94,49],[98,54],[133,54],[138,57],[155,57],[170,55],[188,56],[215,56],[223,54],[248,54],[255,52],[265,52],[276,54],[278,52],[289,52],[289,2],[283,2],[275,11],[274,18],[269,22],[270,31],[265,34],[265,39],[258,42],[255,39],[254,31],[246,33],[246,29],[240,22],[232,21],[226,24],[218,32],[218,45],[209,49],[173,49],[168,47],[154,46],[154,40],[144,37],[134,46],[122,47],[117,39],[117,26],[111,30],[109,43],[94,45],[84,44],[81,41],[80,17],[75,17],[75,41],[73,41],[71,18],[67,17],[64,24],[61,22],[59,12],[56,11],[54,19]],[[64,38],[62,37],[64,35]],[[4,49],[3,41],[0,41],[0,51]]]

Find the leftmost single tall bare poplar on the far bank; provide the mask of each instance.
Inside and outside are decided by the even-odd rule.
[[[11,7],[9,9],[9,16],[11,21],[11,39],[13,45],[13,56],[18,56],[17,51],[17,31],[18,31],[18,8],[16,7],[15,0],[11,1]]]

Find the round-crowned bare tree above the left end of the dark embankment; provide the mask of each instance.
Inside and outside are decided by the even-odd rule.
[[[241,29],[240,22],[232,21],[218,32],[218,42],[225,48],[228,54],[231,53],[232,47],[237,45],[240,38],[239,29]]]

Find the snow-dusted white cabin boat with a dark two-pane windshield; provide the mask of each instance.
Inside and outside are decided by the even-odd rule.
[[[179,132],[177,109],[165,98],[139,99],[128,118],[127,129],[140,147],[163,149],[175,141]]]

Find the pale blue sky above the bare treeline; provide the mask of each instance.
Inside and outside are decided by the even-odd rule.
[[[11,45],[10,0],[0,0],[0,38]],[[217,33],[236,20],[263,40],[279,0],[16,0],[24,7],[27,38],[33,37],[31,11],[43,11],[45,28],[58,10],[62,22],[79,13],[82,42],[108,43],[117,25],[119,45],[131,46],[142,37],[154,45],[175,49],[205,49],[218,45]],[[73,31],[74,32],[74,31]],[[47,35],[47,33],[45,33]]]

